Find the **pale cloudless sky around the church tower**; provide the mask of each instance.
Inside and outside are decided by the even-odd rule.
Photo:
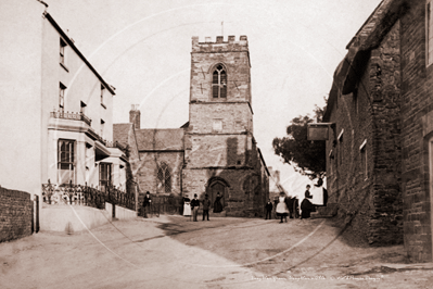
[[[254,136],[284,188],[296,176],[273,154],[297,115],[324,105],[346,45],[381,0],[44,0],[48,12],[116,88],[114,123],[140,104],[142,128],[188,122],[191,37],[246,35]],[[221,25],[221,22],[224,23]]]

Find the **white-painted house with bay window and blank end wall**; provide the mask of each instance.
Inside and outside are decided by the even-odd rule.
[[[39,197],[48,179],[94,187],[110,164],[125,190],[127,160],[110,144],[114,88],[44,10],[36,0],[0,10],[0,186]]]

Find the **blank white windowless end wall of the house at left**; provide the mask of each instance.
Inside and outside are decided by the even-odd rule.
[[[0,9],[0,185],[40,194],[41,49],[44,5],[2,1]],[[4,28],[7,27],[7,28]]]

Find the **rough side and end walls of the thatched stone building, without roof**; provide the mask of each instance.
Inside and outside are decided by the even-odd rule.
[[[356,86],[334,101],[327,142],[329,203],[371,244],[403,242],[399,23],[352,63]]]

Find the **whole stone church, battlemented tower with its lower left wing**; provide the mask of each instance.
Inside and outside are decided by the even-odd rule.
[[[130,111],[141,191],[190,198],[219,192],[227,215],[257,216],[269,194],[269,173],[253,136],[250,52],[235,41],[192,38],[189,122],[174,129],[140,129]],[[126,143],[125,136],[116,138]]]

